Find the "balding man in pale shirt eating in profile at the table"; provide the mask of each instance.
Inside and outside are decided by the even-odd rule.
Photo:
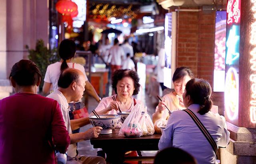
[[[68,158],[66,164],[106,164],[104,158],[99,156],[79,156],[76,152],[76,143],[90,138],[97,138],[100,134],[101,127],[93,127],[85,132],[72,134],[72,130],[76,130],[86,124],[89,124],[89,118],[82,118],[70,120],[68,111],[70,106],[68,103],[71,101],[79,101],[84,94],[84,87],[86,85],[84,74],[78,69],[68,68],[65,69],[59,77],[58,89],[48,95],[58,101],[66,128],[70,136],[70,146],[68,147]]]

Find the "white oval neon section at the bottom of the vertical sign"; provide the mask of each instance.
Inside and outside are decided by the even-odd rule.
[[[227,111],[227,115],[230,120],[234,120],[238,116],[238,86],[238,73],[236,69],[230,67],[226,75],[224,95],[225,110]]]

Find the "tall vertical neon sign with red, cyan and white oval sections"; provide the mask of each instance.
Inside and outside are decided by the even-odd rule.
[[[239,57],[240,57],[240,0],[228,0],[225,58],[225,113],[230,119],[238,119],[239,110]]]

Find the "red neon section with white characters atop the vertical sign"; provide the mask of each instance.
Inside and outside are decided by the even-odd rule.
[[[227,24],[240,23],[241,12],[239,0],[228,0],[227,13]]]

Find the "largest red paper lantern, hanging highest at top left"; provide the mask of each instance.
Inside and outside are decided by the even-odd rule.
[[[56,10],[64,15],[70,15],[72,17],[77,16],[77,4],[71,0],[59,0],[56,4]]]

